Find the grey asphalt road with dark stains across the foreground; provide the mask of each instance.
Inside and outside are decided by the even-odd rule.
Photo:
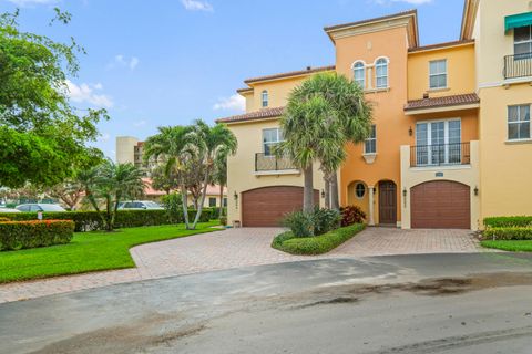
[[[260,266],[0,304],[0,353],[532,353],[532,254]]]

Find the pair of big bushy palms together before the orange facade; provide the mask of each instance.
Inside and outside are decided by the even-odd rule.
[[[364,90],[336,73],[317,74],[289,95],[280,125],[282,148],[304,169],[305,186],[311,184],[311,164],[320,163],[326,185],[326,205],[339,208],[337,170],[347,155],[348,143],[358,144],[371,132],[371,105]],[[304,209],[311,208],[311,190],[305,187]]]

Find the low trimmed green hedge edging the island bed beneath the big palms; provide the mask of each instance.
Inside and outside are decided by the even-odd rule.
[[[323,254],[337,248],[366,228],[362,223],[339,228],[321,236],[296,238],[290,231],[275,237],[272,247],[290,254]]]

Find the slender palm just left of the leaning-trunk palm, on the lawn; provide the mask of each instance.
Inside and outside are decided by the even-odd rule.
[[[186,229],[190,229],[187,207],[186,174],[190,173],[191,160],[197,154],[192,140],[192,128],[188,126],[160,127],[158,134],[147,138],[144,144],[144,159],[154,158],[164,166],[165,174],[175,174],[181,189],[183,218]]]

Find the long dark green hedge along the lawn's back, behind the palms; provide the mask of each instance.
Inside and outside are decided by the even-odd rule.
[[[201,222],[207,222],[213,219],[212,209],[203,209]],[[195,210],[188,210],[188,220],[191,222],[196,216]],[[37,212],[0,212],[0,218],[8,218],[13,221],[37,220]],[[72,220],[75,223],[75,232],[102,230],[103,222],[96,211],[63,211],[63,212],[43,212],[43,220]],[[184,222],[183,211],[177,218],[170,217],[166,210],[119,210],[116,214],[116,228],[133,228],[141,226],[157,226]]]

